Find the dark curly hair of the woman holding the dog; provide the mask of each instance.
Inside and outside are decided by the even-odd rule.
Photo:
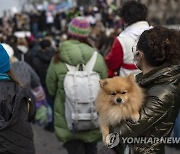
[[[144,31],[137,43],[137,49],[144,53],[151,66],[164,63],[180,63],[180,32],[162,26]]]

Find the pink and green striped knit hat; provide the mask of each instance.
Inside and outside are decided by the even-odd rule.
[[[68,33],[78,38],[88,37],[90,26],[84,17],[76,17],[69,24]]]

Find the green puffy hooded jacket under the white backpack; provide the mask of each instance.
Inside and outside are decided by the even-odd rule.
[[[94,49],[91,48],[89,45],[80,43],[77,40],[64,41],[62,44],[60,44],[59,48],[60,61],[58,63],[54,63],[52,60],[48,68],[46,84],[49,93],[52,96],[55,96],[55,133],[58,139],[63,142],[74,139],[80,139],[84,142],[94,142],[101,139],[99,129],[72,133],[70,130],[68,130],[65,119],[65,92],[63,82],[68,70],[64,62],[73,66],[76,66],[79,63],[86,64],[90,59],[93,51]],[[100,54],[98,54],[97,56],[94,71],[99,73],[100,78],[107,77],[106,64]]]

